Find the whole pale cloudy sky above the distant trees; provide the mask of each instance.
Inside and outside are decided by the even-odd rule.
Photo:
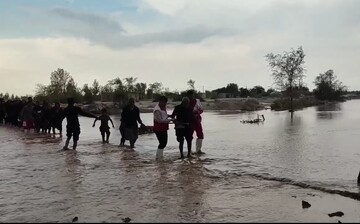
[[[302,46],[305,83],[333,69],[360,89],[359,0],[0,0],[0,92],[57,68],[82,86],[137,77],[170,90],[273,87],[267,53]]]

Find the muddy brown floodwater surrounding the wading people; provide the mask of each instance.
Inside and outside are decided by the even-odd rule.
[[[99,123],[82,117],[76,152],[61,151],[65,137],[2,126],[0,222],[359,222],[359,111],[360,100],[293,119],[205,112],[206,154],[178,160],[171,127],[163,162],[154,134],[140,136],[135,150],[119,148],[118,117],[105,145]],[[265,122],[240,122],[257,114]],[[141,116],[152,125],[151,113]],[[345,215],[327,215],[336,211]]]

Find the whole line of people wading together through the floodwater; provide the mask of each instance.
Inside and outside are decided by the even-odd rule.
[[[179,142],[180,158],[184,158],[184,143],[187,145],[187,157],[191,157],[193,134],[196,132],[196,154],[202,154],[202,141],[204,134],[201,125],[201,114],[203,108],[200,100],[194,97],[194,91],[187,91],[187,96],[182,99],[182,102],[175,106],[172,114],[167,113],[167,98],[161,96],[158,103],[153,110],[153,131],[159,141],[156,152],[156,159],[163,158],[163,150],[168,142],[169,124],[175,125],[176,139]],[[109,143],[110,127],[115,128],[106,109],[101,110],[101,115],[96,116],[91,113],[83,111],[80,107],[75,106],[74,99],[68,99],[68,105],[62,109],[59,103],[55,103],[54,107],[44,101],[43,105],[36,101],[33,103],[31,97],[28,101],[10,102],[0,99],[0,123],[11,124],[14,126],[23,127],[29,132],[34,129],[36,132],[53,134],[58,129],[60,135],[62,134],[62,121],[66,118],[66,136],[64,150],[68,150],[70,140],[73,139],[73,150],[76,150],[77,142],[80,136],[80,122],[79,115],[94,118],[93,127],[96,121],[100,120],[100,133],[103,143]],[[135,142],[138,139],[138,123],[141,127],[146,127],[140,118],[140,110],[135,105],[135,100],[130,98],[128,104],[122,109],[120,124],[120,146],[125,146],[125,141],[130,142],[130,147],[135,148]]]

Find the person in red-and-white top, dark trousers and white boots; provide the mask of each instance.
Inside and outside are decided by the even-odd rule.
[[[156,159],[161,160],[163,158],[164,148],[168,141],[169,123],[173,120],[169,118],[166,112],[166,104],[168,99],[165,96],[159,98],[159,103],[154,108],[154,133],[159,141],[159,146],[156,151]]]

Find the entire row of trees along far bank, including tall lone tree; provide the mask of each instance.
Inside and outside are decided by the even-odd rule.
[[[236,83],[229,83],[225,87],[215,90],[206,90],[200,92],[195,89],[195,81],[190,79],[187,82],[188,89],[195,90],[197,97],[203,98],[236,98],[236,97],[280,97],[290,100],[290,109],[293,109],[293,99],[301,96],[314,96],[318,100],[337,101],[341,100],[347,93],[344,86],[334,74],[333,70],[319,74],[314,81],[315,89],[311,92],[303,83],[305,69],[305,54],[302,47],[284,54],[267,54],[266,60],[274,78],[275,88],[265,90],[264,87],[256,85],[252,88],[239,87]],[[360,92],[353,91],[353,94],[360,95]],[[105,85],[100,85],[95,79],[91,85],[84,84],[79,87],[70,73],[62,68],[51,72],[50,83],[48,85],[37,84],[35,100],[46,100],[50,103],[65,103],[69,97],[74,98],[77,102],[92,103],[94,101],[114,102],[124,105],[129,97],[136,100],[157,100],[160,95],[165,95],[173,101],[180,101],[186,95],[186,91],[170,91],[164,88],[161,82],[143,83],[137,82],[135,77],[114,78],[109,80]],[[24,97],[28,97],[23,96]],[[18,96],[8,93],[0,94],[0,98],[17,99]]]

